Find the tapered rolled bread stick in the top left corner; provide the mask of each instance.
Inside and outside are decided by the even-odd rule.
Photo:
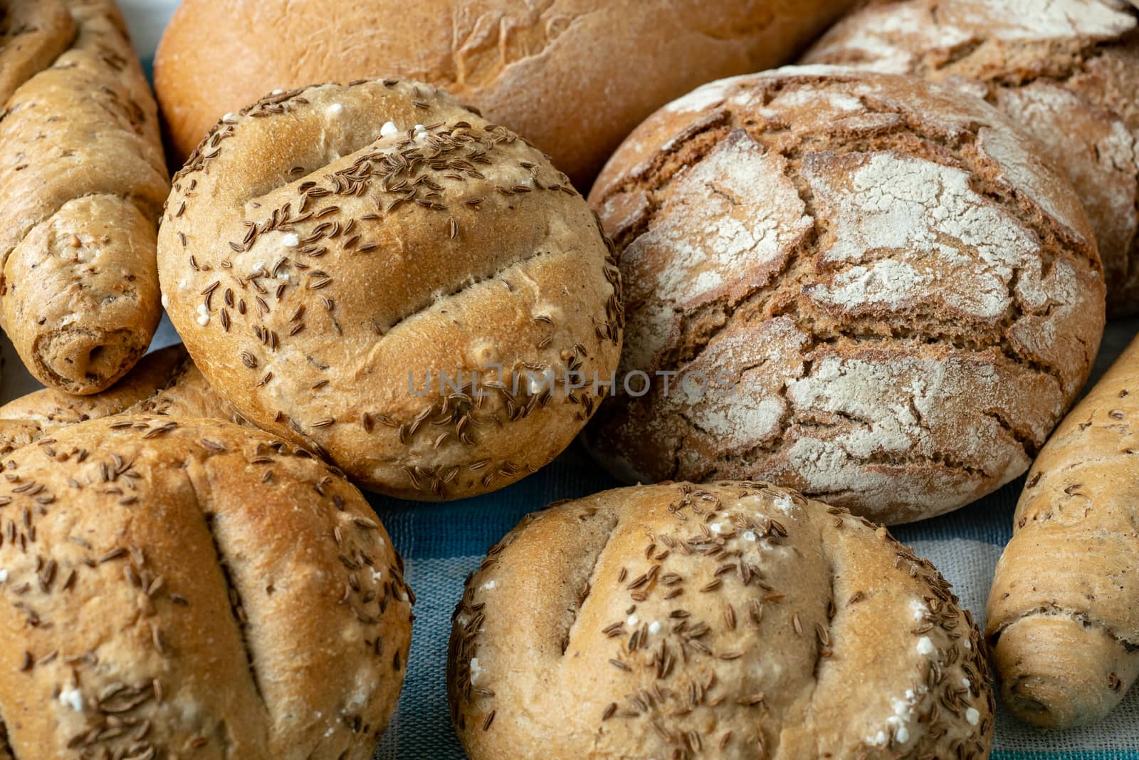
[[[115,3],[0,2],[0,326],[44,385],[103,391],[158,325],[170,190]]]

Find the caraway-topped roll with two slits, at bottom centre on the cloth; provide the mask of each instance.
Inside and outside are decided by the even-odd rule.
[[[764,483],[530,515],[467,579],[448,655],[472,760],[989,757],[981,636],[884,528]]]

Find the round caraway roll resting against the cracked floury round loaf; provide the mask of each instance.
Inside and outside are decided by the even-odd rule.
[[[158,247],[218,393],[384,493],[534,472],[616,369],[620,273],[584,199],[428,85],[313,87],[224,120],[177,175]]]

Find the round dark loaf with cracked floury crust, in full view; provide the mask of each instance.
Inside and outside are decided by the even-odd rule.
[[[657,112],[590,196],[622,370],[652,379],[593,448],[628,482],[757,477],[885,523],[1023,473],[1104,327],[1087,216],[1035,150],[969,96],[827,67]]]

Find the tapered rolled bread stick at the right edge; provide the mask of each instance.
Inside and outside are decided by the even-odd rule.
[[[1139,677],[1139,341],[1056,428],[1017,504],[986,635],[1021,720],[1104,718]]]

